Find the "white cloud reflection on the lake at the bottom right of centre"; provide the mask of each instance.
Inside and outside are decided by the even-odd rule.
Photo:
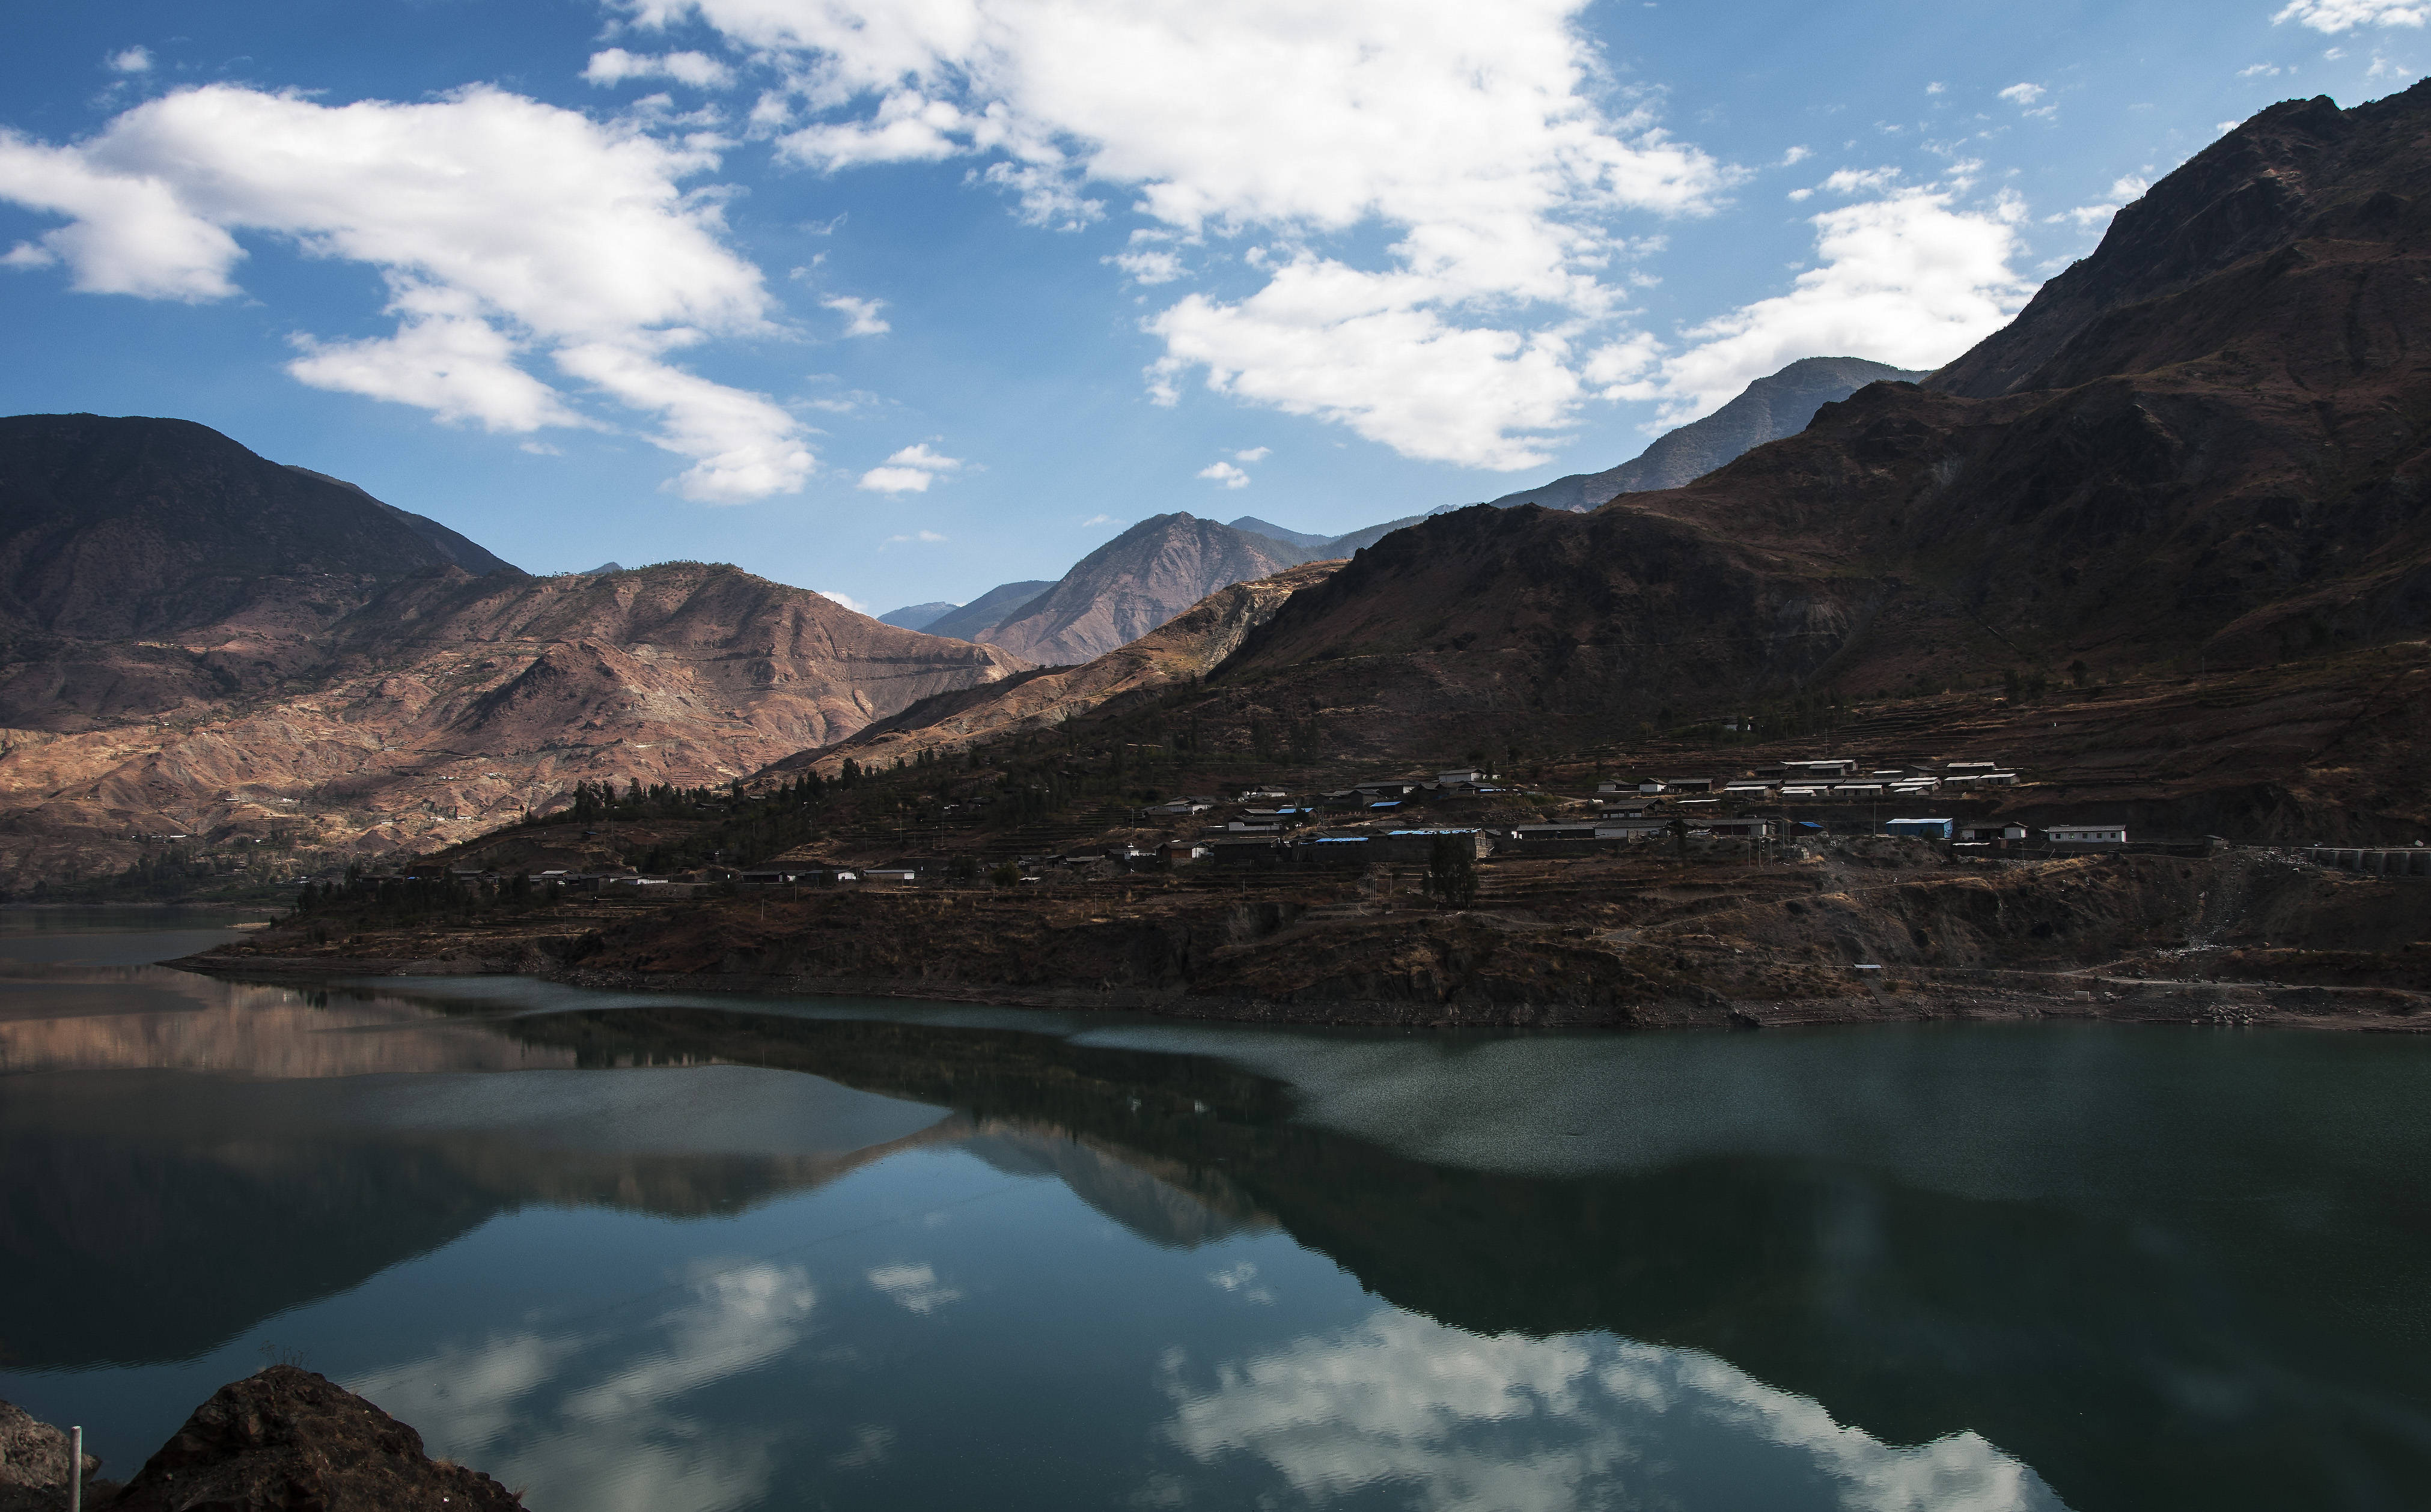
[[[1617,1493],[1850,1512],[2061,1507],[1974,1432],[1882,1444],[1711,1354],[1607,1335],[1473,1335],[1386,1308],[1220,1364],[1206,1388],[1184,1376],[1169,1356],[1167,1439],[1201,1463],[1257,1456],[1308,1502],[1400,1485],[1425,1512],[1568,1512]]]

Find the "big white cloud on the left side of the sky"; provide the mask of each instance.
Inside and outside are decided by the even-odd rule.
[[[328,107],[207,85],[66,148],[0,134],[0,199],[68,221],[41,250],[92,294],[233,297],[236,231],[372,265],[396,331],[301,335],[297,379],[489,430],[591,423],[532,374],[545,355],[659,421],[649,440],[693,462],[671,489],[727,503],[797,491],[814,459],[773,401],[666,360],[768,331],[717,197],[681,187],[715,165],[700,139],[489,88]]]

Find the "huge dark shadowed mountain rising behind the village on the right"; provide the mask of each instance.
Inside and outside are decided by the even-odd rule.
[[[2268,187],[2288,160],[2312,163],[2292,199]],[[2066,387],[1874,384],[1687,489],[1585,518],[1429,520],[1293,598],[1225,676],[1412,734],[1536,715],[1629,729],[2003,666],[2251,664],[2419,634],[2426,165],[2431,88],[2263,112],[2071,275],[2125,304],[2030,309],[2020,326],[2066,331],[1996,335],[1942,374],[2049,348],[2037,372]],[[2263,226],[2256,204],[2295,219]]]

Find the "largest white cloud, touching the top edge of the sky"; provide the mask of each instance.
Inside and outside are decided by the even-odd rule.
[[[1274,236],[1262,289],[1145,323],[1150,394],[1203,374],[1471,467],[1532,467],[1573,421],[1573,343],[1624,309],[1617,221],[1702,214],[1736,177],[1612,105],[1580,7],[1512,0],[1480,27],[1468,0],[625,0],[788,68],[756,119],[812,168],[977,156],[1038,224],[1087,224],[1116,185],[1181,238]],[[1337,250],[1352,231],[1391,246]],[[1184,272],[1157,243],[1113,265]]]

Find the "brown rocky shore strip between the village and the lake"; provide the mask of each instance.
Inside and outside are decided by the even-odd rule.
[[[289,921],[180,960],[248,980],[530,975],[1378,1026],[1918,1019],[2431,1026],[2424,890],[2273,851],[1950,863],[1512,861],[1476,907],[1374,878],[768,890],[452,924]]]

